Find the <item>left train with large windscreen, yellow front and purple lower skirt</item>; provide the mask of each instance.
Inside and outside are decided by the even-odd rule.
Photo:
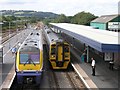
[[[38,30],[33,30],[16,53],[15,70],[18,84],[40,84],[42,69],[42,34]]]

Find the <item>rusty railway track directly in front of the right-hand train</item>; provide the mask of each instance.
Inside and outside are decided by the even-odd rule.
[[[50,89],[86,90],[75,71],[54,71],[49,73]]]

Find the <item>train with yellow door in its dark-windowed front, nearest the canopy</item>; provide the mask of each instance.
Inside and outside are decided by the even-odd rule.
[[[49,61],[53,69],[67,69],[70,64],[70,45],[50,28],[43,31],[49,52]]]

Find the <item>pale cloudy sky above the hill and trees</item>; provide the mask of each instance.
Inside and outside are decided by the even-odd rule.
[[[0,10],[34,10],[65,14],[66,16],[73,16],[78,12],[85,11],[96,16],[101,16],[117,14],[119,1],[120,0],[0,0]]]

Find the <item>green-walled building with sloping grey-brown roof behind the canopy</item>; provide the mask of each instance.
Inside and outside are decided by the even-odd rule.
[[[120,15],[104,15],[91,21],[90,26],[100,30],[120,32]]]

